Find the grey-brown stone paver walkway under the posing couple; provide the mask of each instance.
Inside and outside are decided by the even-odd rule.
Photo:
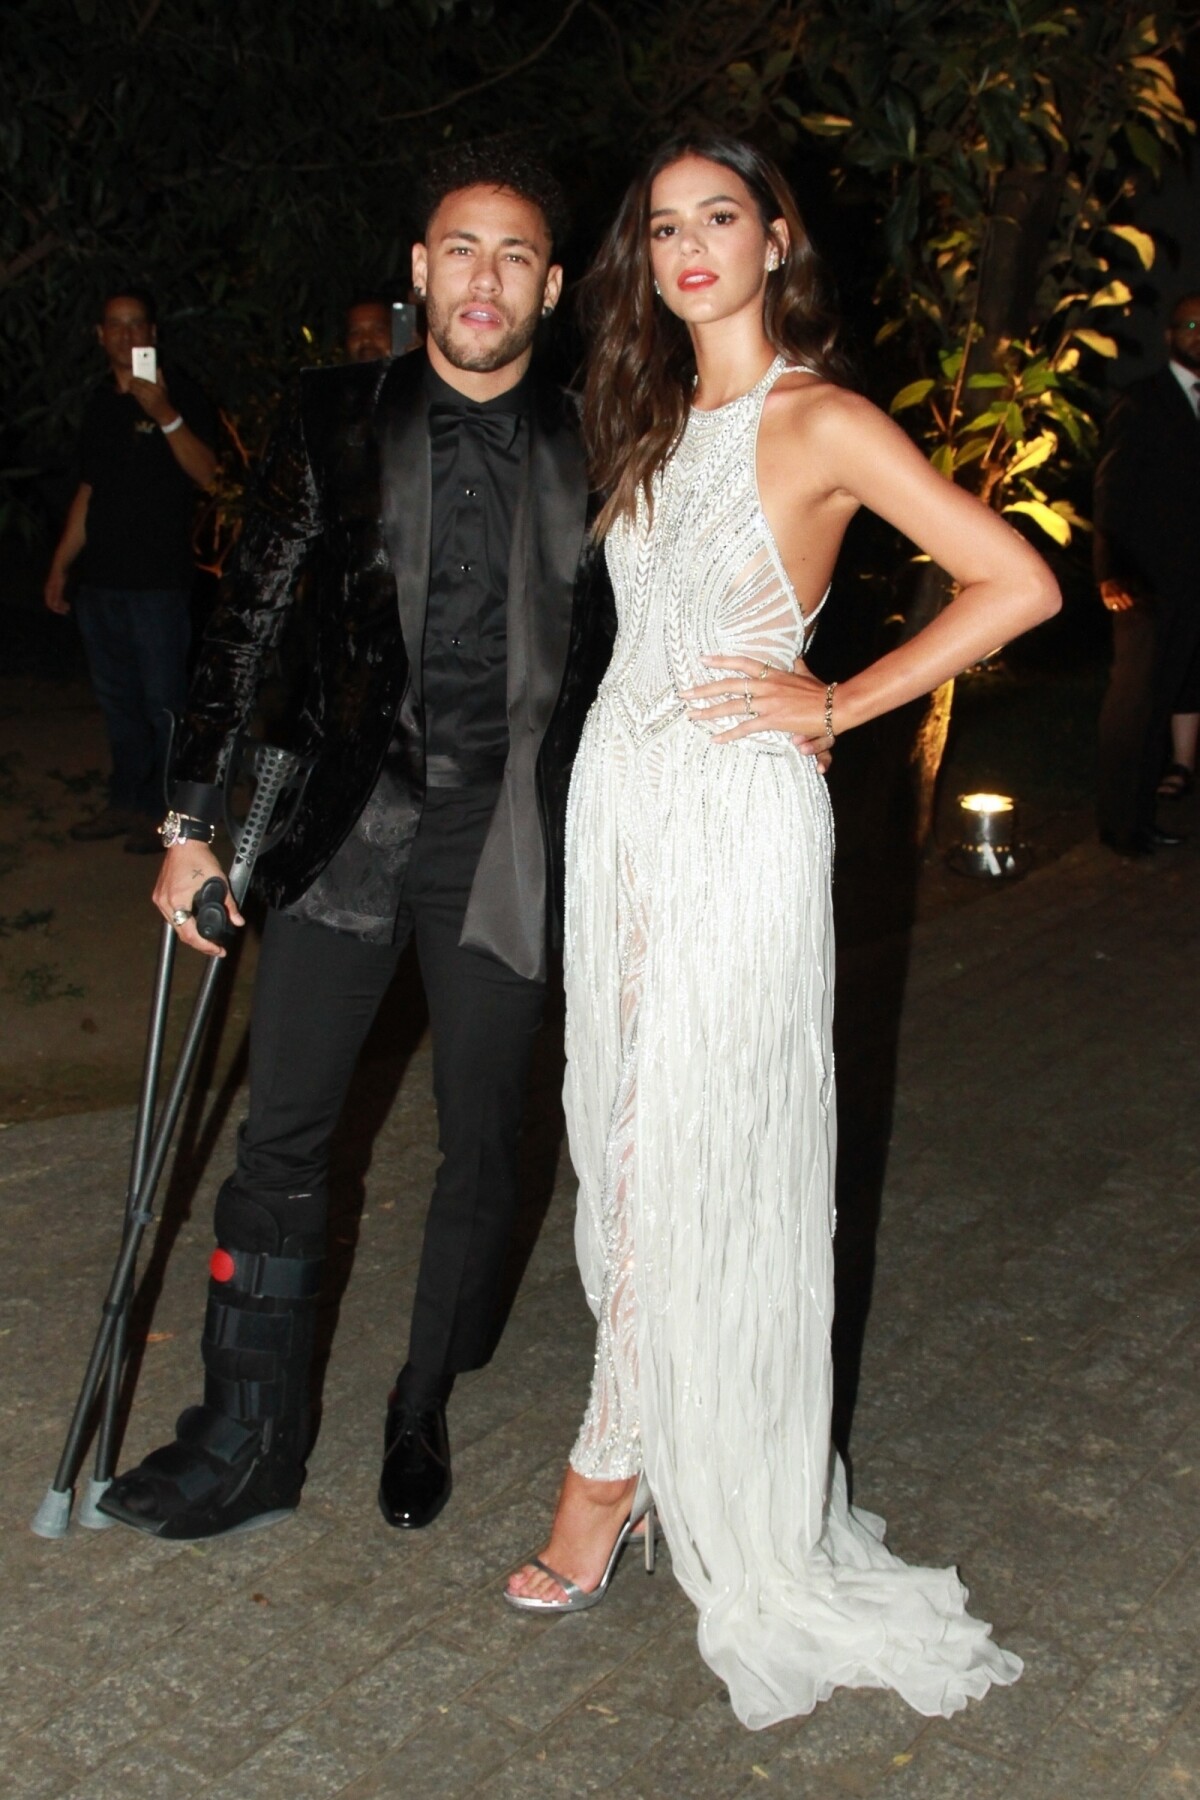
[[[1144,866],[1083,848],[914,940],[856,1494],[900,1553],[959,1562],[1025,1658],[1015,1688],[948,1723],[838,1694],[747,1733],[667,1555],[653,1580],[630,1561],[581,1618],[502,1607],[590,1370],[565,1157],[500,1352],[453,1399],[453,1501],[428,1532],[387,1530],[381,1402],[434,1166],[423,1044],[362,1220],[349,1206],[338,1228],[356,1246],[304,1505],[230,1543],[31,1535],[108,1278],[130,1114],[0,1138],[0,1791],[1200,1795],[1198,887],[1191,846]],[[207,1197],[237,1111],[194,1219],[171,1211],[124,1462],[196,1397]]]

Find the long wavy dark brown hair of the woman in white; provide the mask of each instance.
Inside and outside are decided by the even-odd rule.
[[[592,484],[604,495],[597,536],[617,518],[635,515],[639,490],[653,504],[653,477],[687,421],[696,360],[687,326],[655,297],[649,268],[649,191],[682,157],[703,157],[738,175],[768,234],[774,220],[786,221],[788,247],[777,245],[781,266],[766,277],[763,329],[790,362],[802,362],[829,382],[849,376],[837,347],[838,326],[820,259],[775,164],[752,144],[718,131],[669,139],[626,193],[579,284],[588,338],[583,436]]]

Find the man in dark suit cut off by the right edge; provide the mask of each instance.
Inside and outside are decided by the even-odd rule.
[[[1200,295],[1171,310],[1169,362],[1132,382],[1096,472],[1096,578],[1112,612],[1099,718],[1099,835],[1121,855],[1182,839],[1155,794],[1175,715],[1200,713]]]

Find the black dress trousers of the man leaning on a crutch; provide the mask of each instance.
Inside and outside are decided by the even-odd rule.
[[[408,1363],[434,1391],[491,1355],[516,1208],[516,1147],[545,985],[459,945],[495,788],[430,792],[396,943],[272,913],[250,1024],[250,1116],[234,1186],[286,1210],[324,1193],[363,1039],[410,936],[430,1008],[443,1163],[425,1228]]]

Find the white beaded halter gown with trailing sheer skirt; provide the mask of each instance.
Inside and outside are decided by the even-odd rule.
[[[565,1107],[599,1327],[570,1460],[646,1469],[700,1651],[754,1728],[837,1687],[948,1715],[1022,1669],[954,1570],[885,1550],[829,1444],[824,779],[779,733],[714,743],[678,698],[714,679],[703,653],[790,668],[806,639],[756,475],[786,367],[693,410],[653,522],[639,502],[608,535],[617,643],[567,821]]]

